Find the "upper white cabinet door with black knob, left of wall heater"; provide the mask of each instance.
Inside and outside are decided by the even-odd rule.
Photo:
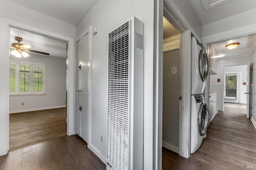
[[[76,43],[76,90],[88,91],[89,36],[84,35]]]

